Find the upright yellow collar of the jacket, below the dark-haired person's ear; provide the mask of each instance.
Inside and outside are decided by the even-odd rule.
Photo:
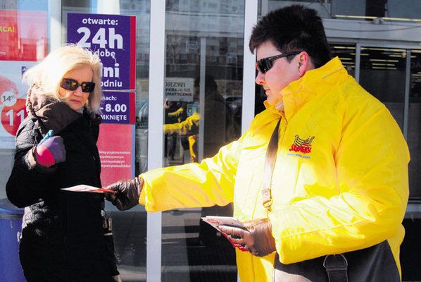
[[[266,109],[286,118],[291,118],[311,99],[328,92],[334,85],[347,77],[348,73],[338,57],[327,62],[320,68],[306,72],[299,80],[294,80],[281,90],[284,102],[284,113],[264,102]]]

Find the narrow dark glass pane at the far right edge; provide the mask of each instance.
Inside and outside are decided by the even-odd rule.
[[[412,200],[421,199],[421,50],[411,50],[408,116],[409,187]]]

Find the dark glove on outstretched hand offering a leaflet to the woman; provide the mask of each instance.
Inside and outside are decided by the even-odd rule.
[[[132,209],[132,207],[139,204],[139,195],[140,192],[142,192],[143,179],[135,177],[132,179],[120,180],[104,188],[116,192],[115,194],[106,193],[106,200],[112,202],[120,211],[125,211],[126,209]]]

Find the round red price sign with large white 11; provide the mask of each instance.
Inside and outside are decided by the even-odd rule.
[[[15,104],[6,106],[1,110],[1,125],[9,134],[15,136],[20,123],[26,118],[25,99],[16,99]]]

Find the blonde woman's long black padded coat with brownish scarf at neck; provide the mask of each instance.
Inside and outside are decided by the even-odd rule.
[[[64,192],[87,184],[101,187],[96,140],[99,116],[83,114],[51,97],[28,92],[28,117],[16,135],[8,199],[25,207],[20,262],[27,281],[111,281],[103,236],[103,195]],[[34,146],[49,130],[63,137],[66,160],[44,168]]]

